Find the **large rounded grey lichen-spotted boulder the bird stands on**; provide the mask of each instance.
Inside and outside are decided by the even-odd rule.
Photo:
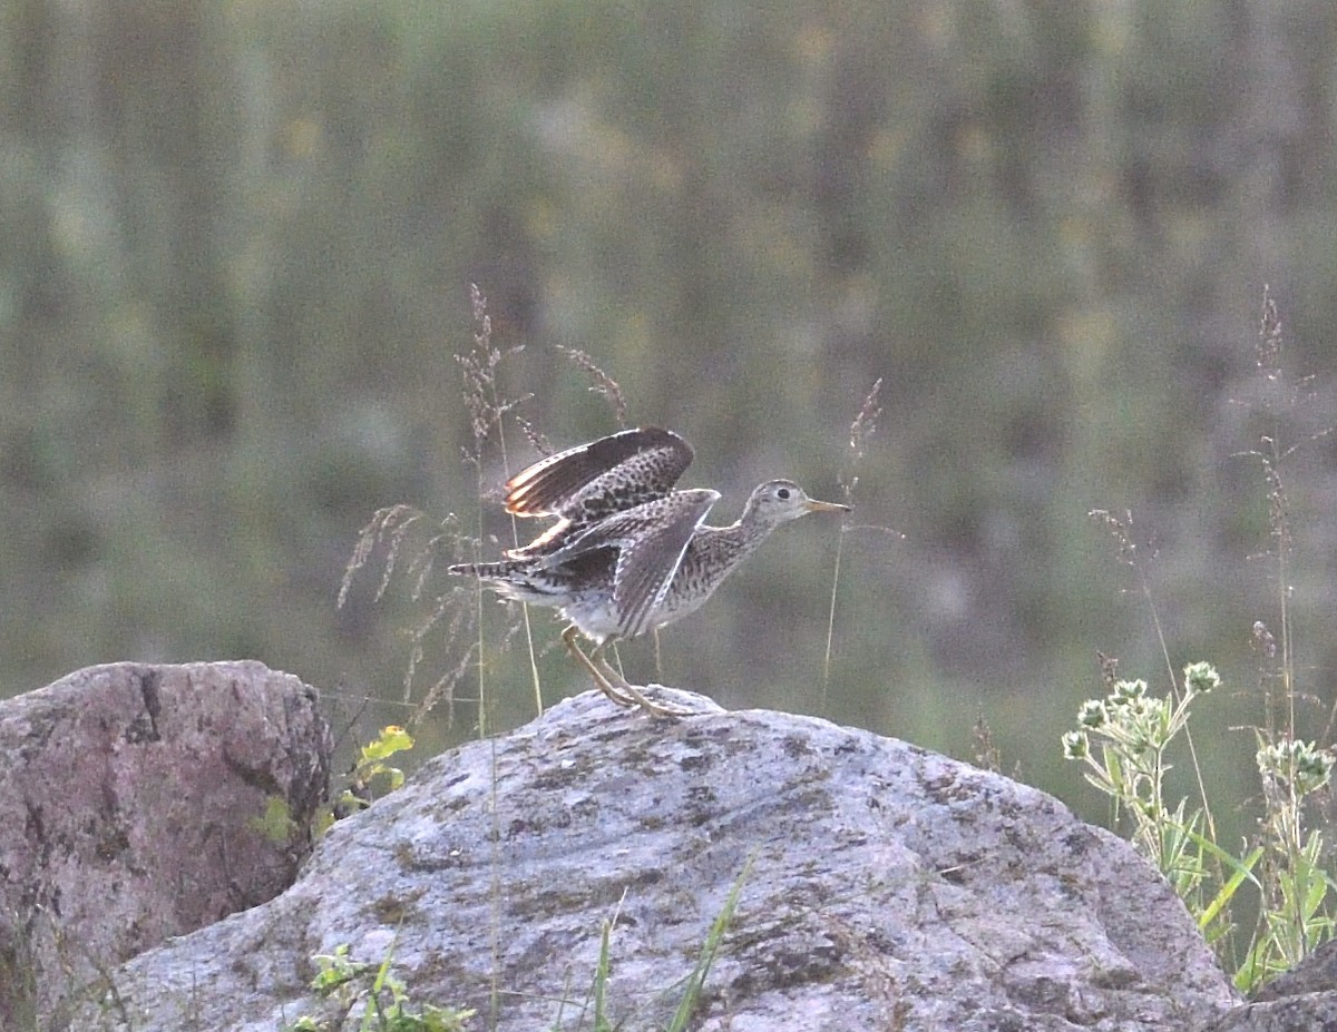
[[[275,1032],[349,944],[469,1028],[659,1029],[746,870],[693,1029],[1183,1032],[1234,1003],[1185,908],[1040,791],[825,721],[586,694],[429,762],[277,900],[124,965],[72,1028]],[[330,1025],[338,1028],[336,1023]],[[356,1023],[345,1025],[356,1028]]]

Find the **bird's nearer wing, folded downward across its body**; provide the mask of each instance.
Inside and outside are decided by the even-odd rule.
[[[612,600],[620,636],[635,638],[650,628],[697,529],[719,500],[718,491],[677,491],[663,499],[610,516],[543,559],[560,565],[598,548],[616,548]]]

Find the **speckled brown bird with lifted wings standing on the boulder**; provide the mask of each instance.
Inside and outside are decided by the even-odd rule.
[[[767,480],[738,520],[711,527],[705,520],[719,492],[675,489],[693,456],[673,430],[640,426],[540,459],[505,483],[505,511],[556,523],[497,561],[448,572],[475,576],[505,599],[556,608],[568,620],[563,644],[604,695],[654,717],[683,717],[630,684],[604,650],[701,608],[777,527],[810,512],[849,512],[793,480]],[[588,655],[578,634],[594,643]]]

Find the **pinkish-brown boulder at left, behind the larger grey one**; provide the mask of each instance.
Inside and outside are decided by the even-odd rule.
[[[261,663],[115,663],[0,703],[0,1029],[287,888],[329,758],[314,691]]]

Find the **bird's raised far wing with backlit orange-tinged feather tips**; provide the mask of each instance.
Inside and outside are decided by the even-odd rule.
[[[666,497],[691,457],[691,445],[677,433],[642,426],[541,459],[507,481],[505,509],[525,517],[556,516],[558,523],[507,555],[544,555],[610,516]]]

